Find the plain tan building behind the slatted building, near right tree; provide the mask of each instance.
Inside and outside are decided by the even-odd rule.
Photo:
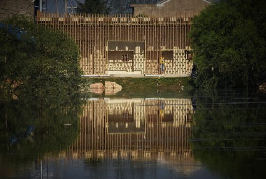
[[[178,13],[199,13],[210,0],[162,0],[156,4],[132,4],[135,15],[148,17],[172,17]]]

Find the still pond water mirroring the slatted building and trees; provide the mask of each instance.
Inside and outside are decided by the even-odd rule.
[[[0,178],[266,178],[266,94],[0,101]]]

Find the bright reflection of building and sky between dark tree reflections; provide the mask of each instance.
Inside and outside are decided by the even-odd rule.
[[[190,98],[84,101],[79,137],[68,150],[53,155],[84,168],[78,170],[81,177],[176,178],[200,170],[188,140],[193,122]]]

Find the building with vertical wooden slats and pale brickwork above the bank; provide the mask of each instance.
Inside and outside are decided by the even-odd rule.
[[[188,33],[195,13],[171,17],[136,17],[134,14],[37,13],[37,23],[63,31],[80,49],[84,75],[144,76],[161,74],[159,58],[165,58],[166,74],[186,76],[192,69]]]

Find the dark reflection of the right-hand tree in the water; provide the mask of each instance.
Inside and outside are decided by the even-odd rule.
[[[194,157],[226,177],[266,176],[266,105],[261,99],[236,92],[198,94]]]

